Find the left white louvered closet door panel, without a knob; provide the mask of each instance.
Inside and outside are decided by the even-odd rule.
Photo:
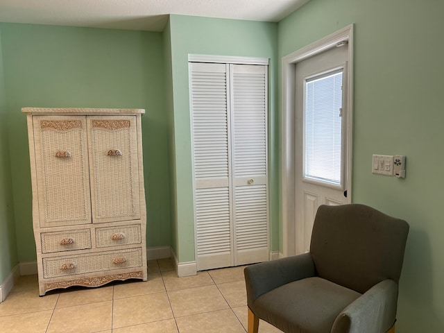
[[[227,65],[190,63],[198,271],[232,266]]]

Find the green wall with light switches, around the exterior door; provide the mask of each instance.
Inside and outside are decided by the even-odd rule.
[[[444,332],[444,1],[311,0],[279,24],[279,57],[355,24],[353,202],[410,224],[397,332]],[[372,154],[406,155],[405,179]]]

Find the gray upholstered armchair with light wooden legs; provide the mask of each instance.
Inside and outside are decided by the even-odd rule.
[[[366,205],[318,208],[309,253],[245,268],[248,333],[395,332],[407,222]]]

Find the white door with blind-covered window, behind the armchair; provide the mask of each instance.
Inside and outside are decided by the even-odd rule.
[[[296,253],[309,250],[320,205],[349,203],[348,45],[296,64]]]

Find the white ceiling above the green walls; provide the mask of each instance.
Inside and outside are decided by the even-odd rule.
[[[309,0],[0,0],[0,22],[162,31],[169,14],[279,22]]]

